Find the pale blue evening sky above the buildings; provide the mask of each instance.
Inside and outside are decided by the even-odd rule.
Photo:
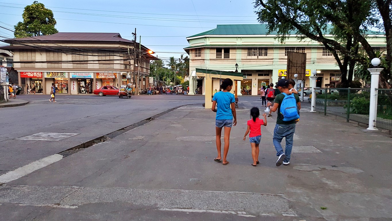
[[[22,21],[34,0],[0,0],[0,26]],[[186,55],[186,37],[216,28],[217,24],[258,24],[254,0],[39,0],[54,13],[59,32],[120,33],[141,43],[164,60]],[[94,11],[95,10],[95,11]],[[0,36],[13,37],[0,28]],[[3,39],[3,38],[2,38]],[[1,43],[1,42],[0,42]],[[4,45],[4,44],[0,44]]]

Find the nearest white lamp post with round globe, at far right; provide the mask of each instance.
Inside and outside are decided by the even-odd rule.
[[[379,58],[372,59],[372,65],[374,68],[369,68],[368,71],[371,75],[370,82],[370,108],[369,108],[369,127],[366,130],[378,130],[376,128],[376,119],[377,119],[377,88],[379,82],[380,72],[383,68],[378,68],[378,65],[381,63]]]

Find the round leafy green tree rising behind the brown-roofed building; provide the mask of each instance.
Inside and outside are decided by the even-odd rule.
[[[53,18],[53,11],[45,8],[45,5],[34,1],[27,5],[22,14],[23,22],[18,22],[15,27],[15,37],[29,37],[40,35],[52,35],[58,33],[54,27],[56,20]]]

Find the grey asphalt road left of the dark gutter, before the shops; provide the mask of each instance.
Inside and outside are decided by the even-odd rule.
[[[38,159],[62,152],[156,114],[186,104],[201,104],[204,97],[183,95],[115,96],[19,95],[26,106],[2,108],[0,114],[0,175]],[[20,140],[36,133],[76,133],[57,142]]]

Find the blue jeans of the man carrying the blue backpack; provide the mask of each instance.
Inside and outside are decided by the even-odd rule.
[[[279,156],[283,153],[283,148],[280,142],[282,142],[283,137],[286,138],[286,148],[284,154],[286,158],[283,162],[290,161],[291,149],[293,147],[293,137],[295,132],[296,124],[276,124],[274,130],[274,146],[276,149],[276,155]]]

